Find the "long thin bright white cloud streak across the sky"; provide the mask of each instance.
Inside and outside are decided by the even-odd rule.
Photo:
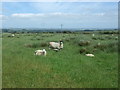
[[[81,17],[81,16],[105,16],[106,13],[61,13],[61,12],[54,12],[54,13],[14,13],[11,16],[16,18],[37,18],[37,17],[53,17],[54,16],[64,16],[64,17]]]

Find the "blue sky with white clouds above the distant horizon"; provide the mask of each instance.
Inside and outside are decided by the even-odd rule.
[[[3,28],[118,28],[117,2],[3,2]]]

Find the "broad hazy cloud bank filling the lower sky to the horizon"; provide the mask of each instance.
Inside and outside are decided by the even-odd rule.
[[[4,15],[0,15],[4,17]],[[45,25],[43,25],[45,23]],[[108,16],[106,13],[14,13],[4,21],[4,27],[37,27],[37,28],[104,28],[116,27],[117,17]],[[108,26],[107,26],[108,25]]]

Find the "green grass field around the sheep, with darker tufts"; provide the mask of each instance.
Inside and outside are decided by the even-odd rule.
[[[3,33],[3,88],[116,88],[118,87],[118,40],[111,34]],[[49,41],[64,41],[55,52]],[[84,41],[81,41],[84,40]],[[90,41],[86,44],[85,42]],[[98,46],[98,43],[101,45]],[[47,56],[35,56],[37,49]],[[92,53],[95,57],[87,57]]]

